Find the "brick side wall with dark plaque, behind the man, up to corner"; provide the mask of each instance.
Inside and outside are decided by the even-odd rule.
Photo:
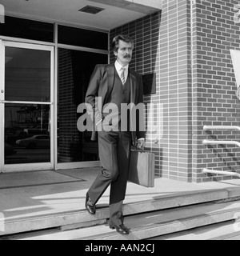
[[[155,174],[186,182],[192,170],[189,16],[187,1],[164,1],[161,12],[110,31],[110,38],[134,38],[131,68],[157,74],[156,94],[144,97],[146,106],[154,106],[146,109],[146,148],[155,154]]]

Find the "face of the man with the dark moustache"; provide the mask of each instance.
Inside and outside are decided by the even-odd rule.
[[[126,66],[130,63],[133,55],[134,45],[131,42],[124,42],[119,40],[118,51],[115,51],[114,54],[117,57],[117,61],[122,65]]]

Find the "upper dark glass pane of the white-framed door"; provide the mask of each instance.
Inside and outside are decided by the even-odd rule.
[[[5,99],[50,102],[50,51],[6,47]]]

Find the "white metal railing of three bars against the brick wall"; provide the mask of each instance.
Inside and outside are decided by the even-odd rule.
[[[203,130],[239,130],[240,126],[203,126]],[[204,145],[235,145],[240,147],[240,142],[236,141],[217,141],[217,140],[209,140],[204,139],[202,141]],[[230,175],[240,178],[240,174],[233,172],[233,171],[222,171],[222,170],[210,170],[207,168],[204,168],[203,170],[204,174],[222,174],[222,175]]]

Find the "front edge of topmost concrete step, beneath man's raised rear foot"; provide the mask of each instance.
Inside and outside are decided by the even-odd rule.
[[[206,190],[194,191],[178,196],[154,198],[150,201],[133,202],[126,204],[123,209],[124,216],[149,213],[156,210],[165,210],[180,206],[195,205],[204,202],[226,200],[239,196],[239,190]],[[83,207],[82,207],[83,208]],[[46,230],[60,227],[62,230],[72,230],[87,226],[96,226],[106,223],[109,218],[109,207],[102,206],[97,214],[90,215],[86,210],[68,211],[59,214],[39,215],[34,218],[6,218],[5,229],[0,230],[0,236],[18,234],[33,230]]]

